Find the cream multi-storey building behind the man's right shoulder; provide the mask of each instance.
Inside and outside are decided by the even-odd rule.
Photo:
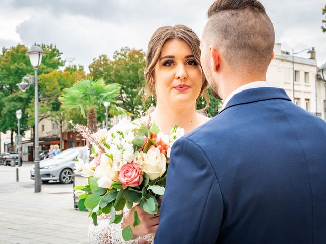
[[[325,82],[318,75],[315,52],[310,54],[310,58],[294,55],[293,60],[293,56],[281,48],[279,43],[274,46],[274,59],[267,71],[267,81],[285,89],[297,106],[325,119]]]

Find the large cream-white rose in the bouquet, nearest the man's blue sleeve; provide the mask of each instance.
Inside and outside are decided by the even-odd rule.
[[[146,154],[143,153],[142,157],[144,157],[144,162],[141,168],[148,174],[150,180],[161,177],[164,174],[167,159],[158,148],[149,149]]]

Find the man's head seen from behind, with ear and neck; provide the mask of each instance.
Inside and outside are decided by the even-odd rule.
[[[274,28],[256,0],[216,0],[208,18],[201,63],[212,89],[225,99],[220,86],[231,75],[235,80],[266,76],[274,55]]]

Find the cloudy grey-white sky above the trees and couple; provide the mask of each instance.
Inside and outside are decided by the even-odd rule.
[[[213,0],[2,0],[0,47],[18,43],[56,44],[63,58],[88,66],[101,54],[112,57],[128,46],[147,50],[155,30],[184,24],[199,37]],[[326,33],[321,31],[324,0],[261,0],[282,50],[314,47],[317,65],[326,62]],[[301,57],[310,57],[302,52]],[[68,65],[69,62],[66,63]]]

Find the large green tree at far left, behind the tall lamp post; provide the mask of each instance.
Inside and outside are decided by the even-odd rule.
[[[42,64],[39,66],[39,74],[49,73],[64,65],[61,59],[61,52],[54,45],[41,45],[46,56],[42,59]],[[0,107],[0,131],[6,132],[8,130],[13,134],[17,130],[16,110],[21,109],[23,116],[21,119],[21,134],[28,129],[26,119],[26,109],[30,101],[34,100],[34,86],[31,86],[25,93],[22,93],[17,84],[21,82],[22,77],[26,74],[34,75],[33,67],[30,63],[29,57],[26,56],[28,48],[24,45],[18,44],[10,48],[3,48],[0,55],[0,93],[4,106]],[[14,109],[16,109],[14,111]],[[34,111],[34,103],[33,103]],[[30,113],[33,115],[34,112]],[[31,120],[31,119],[30,119]],[[30,126],[34,126],[34,119]],[[13,144],[13,138],[11,139]]]

